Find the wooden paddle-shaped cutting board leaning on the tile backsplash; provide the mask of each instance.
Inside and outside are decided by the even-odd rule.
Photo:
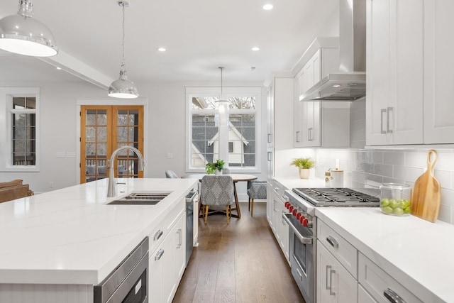
[[[435,150],[427,153],[427,170],[414,182],[411,194],[411,214],[435,222],[440,210],[440,184],[433,177],[433,166],[437,162]]]

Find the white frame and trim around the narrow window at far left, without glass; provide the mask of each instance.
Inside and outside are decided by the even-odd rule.
[[[12,97],[35,97],[35,110],[25,109],[21,112],[35,113],[35,165],[13,165],[11,138]],[[4,121],[0,131],[0,171],[1,172],[39,172],[40,171],[40,88],[39,87],[0,87],[0,121]]]

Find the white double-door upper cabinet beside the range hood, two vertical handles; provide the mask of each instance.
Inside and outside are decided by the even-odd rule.
[[[423,0],[367,0],[367,145],[423,143]]]

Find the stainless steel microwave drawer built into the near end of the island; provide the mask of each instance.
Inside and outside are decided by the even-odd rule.
[[[94,303],[148,302],[148,237],[99,285],[94,285]]]

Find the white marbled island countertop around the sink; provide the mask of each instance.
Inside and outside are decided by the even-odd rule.
[[[98,180],[0,204],[0,283],[98,284],[148,236],[196,179]],[[157,205],[106,205],[133,191],[172,192]]]

